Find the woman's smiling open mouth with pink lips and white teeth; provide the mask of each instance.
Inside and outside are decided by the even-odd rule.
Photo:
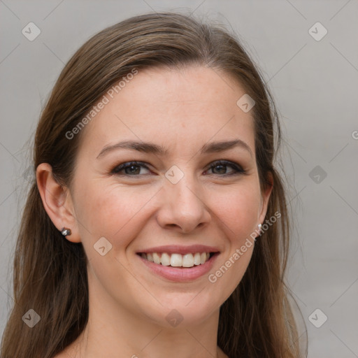
[[[174,282],[188,282],[208,273],[220,251],[204,245],[171,245],[142,250],[136,255],[155,275]]]

